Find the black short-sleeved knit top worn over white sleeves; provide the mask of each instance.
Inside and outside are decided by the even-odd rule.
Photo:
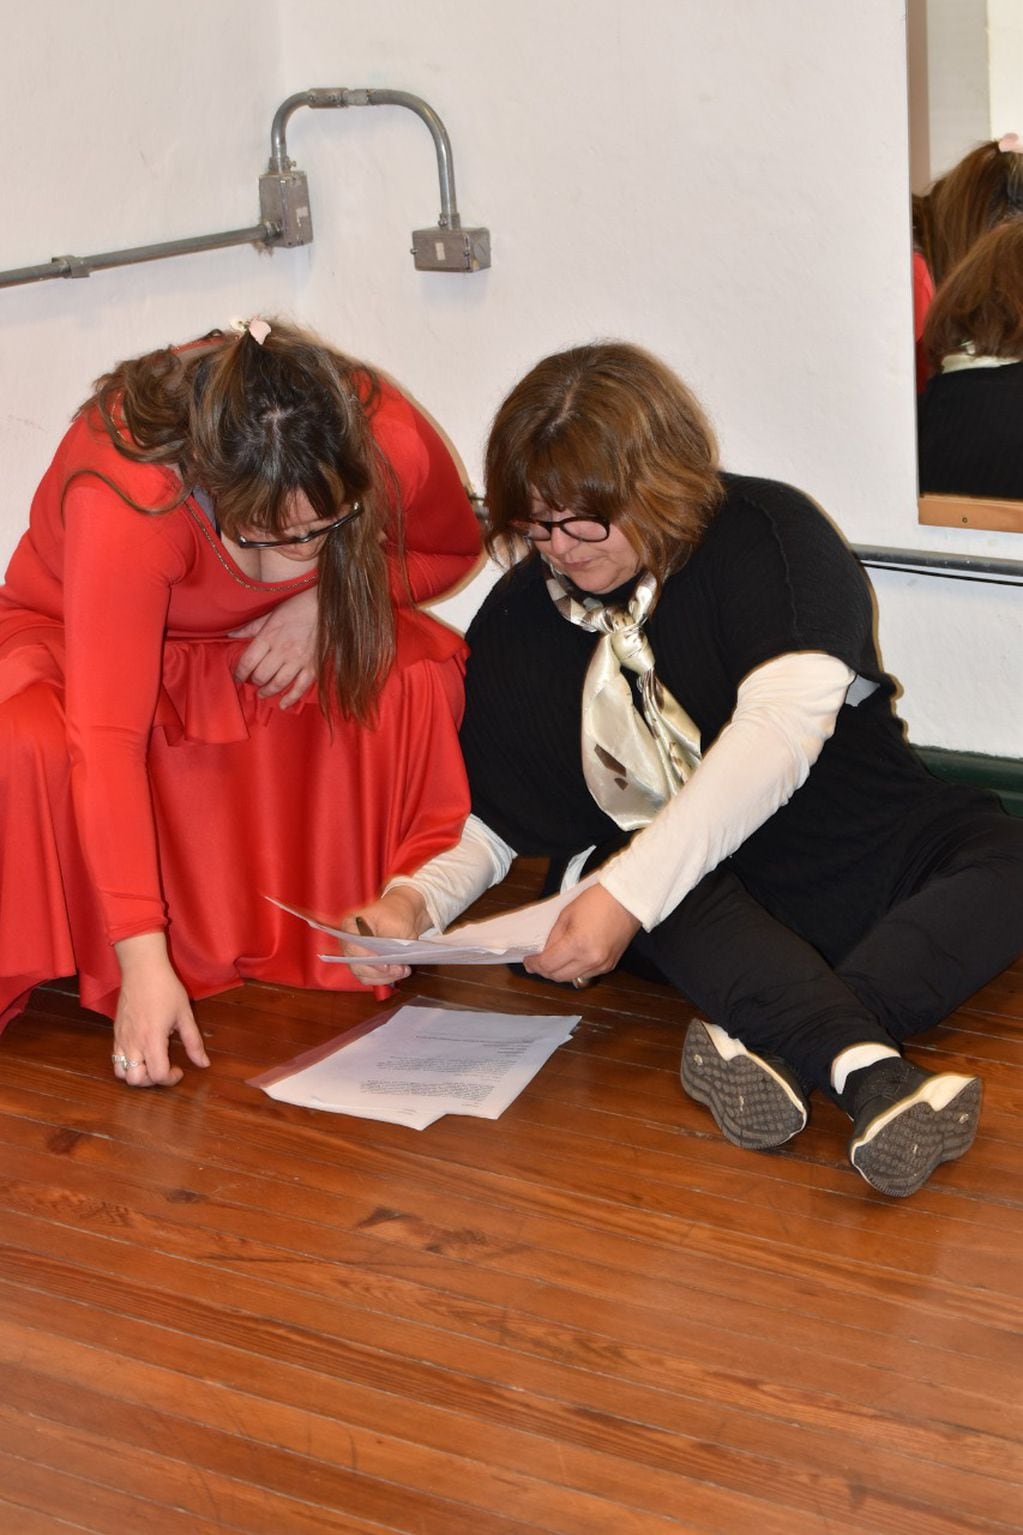
[[[871,898],[871,870],[945,789],[903,738],[874,646],[869,588],[842,537],[790,485],[725,476],[725,487],[647,628],[657,675],[699,726],[704,752],[742,680],[774,657],[825,651],[877,683],[863,703],[842,708],[806,783],[730,860],[759,900],[809,933],[814,912],[834,915],[857,890]],[[558,612],[539,559],[502,577],[468,642],[462,748],[473,812],[525,855],[564,861],[621,843],[582,775],[582,682],[598,639]]]

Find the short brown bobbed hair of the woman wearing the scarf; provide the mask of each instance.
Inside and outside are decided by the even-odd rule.
[[[699,543],[722,496],[696,398],[624,341],[538,362],[495,416],[485,474],[492,554],[522,553],[513,523],[528,519],[536,494],[556,511],[616,523],[659,582]]]

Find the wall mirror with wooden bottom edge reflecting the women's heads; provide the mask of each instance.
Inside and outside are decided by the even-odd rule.
[[[906,20],[920,522],[1023,533],[1023,5]]]

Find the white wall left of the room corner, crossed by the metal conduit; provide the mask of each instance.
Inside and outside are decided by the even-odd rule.
[[[278,20],[276,0],[0,0],[0,267],[257,224]],[[241,247],[0,290],[0,566],[92,379],[289,304],[296,266]]]

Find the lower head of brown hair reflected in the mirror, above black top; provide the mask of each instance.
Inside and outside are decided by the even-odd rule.
[[[988,230],[946,276],[923,345],[935,367],[966,345],[977,356],[1023,359],[1023,220]]]

